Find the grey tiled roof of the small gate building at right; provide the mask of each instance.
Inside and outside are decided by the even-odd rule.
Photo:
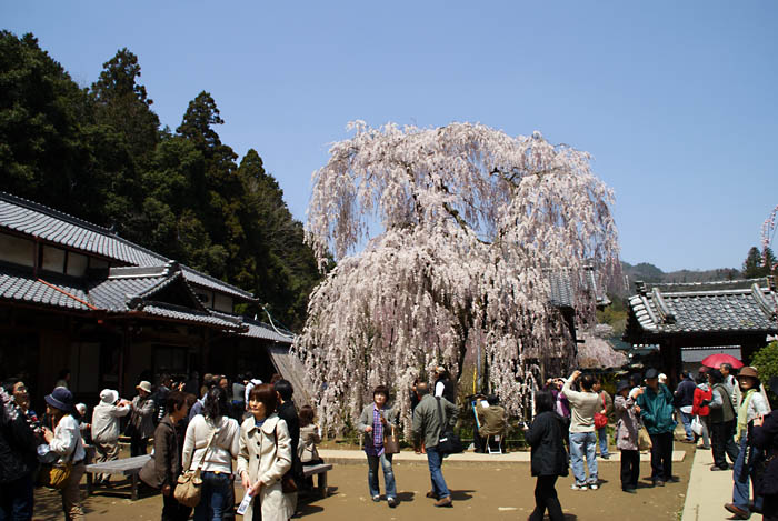
[[[629,299],[629,320],[646,334],[776,332],[776,295],[767,288],[666,293]]]

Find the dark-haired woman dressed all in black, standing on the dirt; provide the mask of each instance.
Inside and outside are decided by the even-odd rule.
[[[562,507],[557,497],[557,479],[568,474],[567,451],[563,440],[568,437],[567,422],[555,412],[555,400],[550,391],[535,394],[537,415],[532,425],[525,428],[525,439],[532,448],[532,475],[538,478],[535,487],[535,511],[528,521],[541,521],[548,509],[551,521],[562,521]]]

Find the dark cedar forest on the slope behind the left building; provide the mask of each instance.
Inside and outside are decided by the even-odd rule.
[[[32,34],[0,32],[2,190],[111,228],[120,237],[253,292],[299,330],[321,274],[302,223],[251,149],[238,162],[206,91],[161,128],[128,49],[89,88]]]

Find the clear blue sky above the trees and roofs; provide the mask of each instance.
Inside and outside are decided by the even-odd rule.
[[[163,124],[200,91],[305,220],[363,119],[540,130],[595,157],[621,257],[740,267],[778,204],[778,2],[3,2],[82,86],[128,47]]]

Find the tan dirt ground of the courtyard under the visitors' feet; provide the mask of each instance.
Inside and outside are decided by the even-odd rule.
[[[619,521],[676,521],[684,508],[689,471],[694,457],[690,445],[676,443],[676,450],[687,450],[682,462],[674,463],[674,474],[680,483],[668,483],[664,488],[649,488],[648,463],[641,463],[641,485],[637,494],[621,492],[619,464],[601,461],[599,475],[602,487],[597,491],[570,490],[572,477],[562,478],[557,484],[566,520],[619,520]],[[430,489],[429,471],[420,464],[395,465],[400,504],[389,509],[386,501],[373,503],[367,490],[367,465],[336,465],[330,473],[330,495],[327,499],[308,499],[301,503],[298,519],[311,521],[359,520],[372,517],[387,520],[525,520],[535,508],[535,480],[528,463],[496,467],[465,463],[443,464],[443,475],[453,494],[453,508],[436,509],[432,500],[425,498]],[[381,478],[382,480],[382,478]],[[117,492],[122,492],[118,488]],[[160,518],[160,495],[147,495],[130,501],[111,492],[98,492],[84,500],[87,519],[156,521]],[[239,492],[238,499],[241,493]],[[37,520],[62,519],[59,497],[48,490],[36,493]],[[238,520],[241,518],[239,517]]]

